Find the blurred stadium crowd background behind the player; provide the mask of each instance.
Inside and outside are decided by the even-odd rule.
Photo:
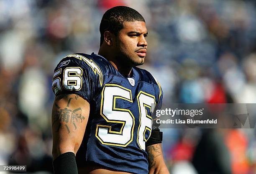
[[[141,68],[161,83],[165,105],[256,103],[254,0],[0,0],[0,164],[51,172],[54,67],[67,54],[97,53],[101,17],[116,5],[146,20]],[[223,173],[256,172],[254,129],[163,131],[173,174],[196,174],[195,152],[199,169],[217,161]]]

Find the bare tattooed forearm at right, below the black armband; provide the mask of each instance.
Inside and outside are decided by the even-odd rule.
[[[148,153],[148,173],[149,174],[169,174],[164,163],[161,143],[146,147]]]

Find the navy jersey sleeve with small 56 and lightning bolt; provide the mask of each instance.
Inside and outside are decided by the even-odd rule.
[[[79,57],[78,57],[79,58]],[[55,94],[77,94],[90,102],[100,87],[98,74],[83,59],[67,56],[54,70],[52,90]]]

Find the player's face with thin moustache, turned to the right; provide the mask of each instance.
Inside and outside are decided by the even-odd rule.
[[[147,35],[145,22],[124,22],[114,44],[118,61],[131,67],[142,65],[147,51]]]

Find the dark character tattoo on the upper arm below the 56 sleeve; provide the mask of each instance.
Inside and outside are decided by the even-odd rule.
[[[60,100],[63,97],[69,97],[69,95],[60,95],[57,97],[56,97],[56,100]],[[75,99],[77,100],[78,97],[79,97],[79,95],[76,95]],[[82,116],[81,107],[78,107],[77,109],[74,109],[74,110],[71,110],[69,108],[69,104],[70,104],[71,100],[72,100],[72,98],[69,98],[69,100],[67,102],[67,107],[65,107],[65,108],[59,107],[56,103],[54,104],[57,107],[57,110],[52,115],[52,119],[53,119],[52,125],[58,124],[56,126],[56,130],[54,130],[55,132],[59,132],[61,125],[64,125],[66,127],[68,133],[70,133],[70,129],[71,129],[70,124],[68,125],[67,123],[72,123],[73,129],[76,130],[77,124],[82,123],[82,121],[85,119],[84,116]]]

